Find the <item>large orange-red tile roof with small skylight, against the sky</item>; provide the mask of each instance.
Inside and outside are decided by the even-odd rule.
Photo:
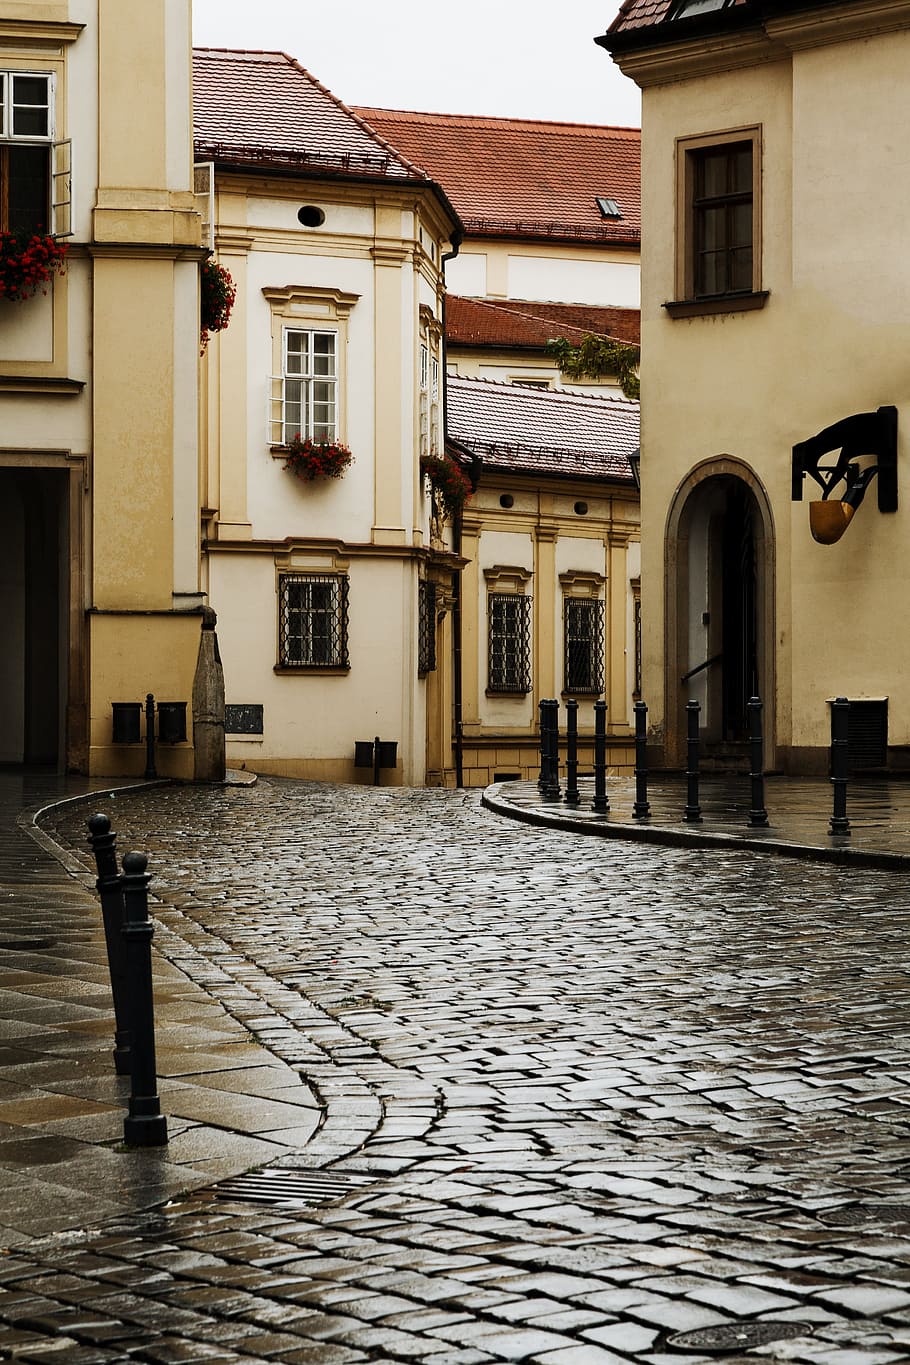
[[[404,109],[356,112],[437,180],[468,229],[639,246],[639,128]],[[595,195],[615,199],[604,218]]]

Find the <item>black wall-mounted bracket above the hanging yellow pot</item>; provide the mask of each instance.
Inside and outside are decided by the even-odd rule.
[[[834,464],[824,457],[839,452]],[[857,412],[832,426],[799,441],[793,448],[793,501],[802,501],[802,480],[809,475],[821,487],[827,501],[843,483],[838,500],[854,509],[879,475],[879,512],[898,511],[898,410],[877,408],[876,412]]]

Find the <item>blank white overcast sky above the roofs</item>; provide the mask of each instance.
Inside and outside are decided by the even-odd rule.
[[[593,38],[619,0],[192,0],[194,42],[278,48],[345,104],[639,127]]]

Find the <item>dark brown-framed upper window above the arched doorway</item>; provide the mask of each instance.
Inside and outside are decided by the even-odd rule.
[[[673,313],[761,307],[760,128],[678,142]]]

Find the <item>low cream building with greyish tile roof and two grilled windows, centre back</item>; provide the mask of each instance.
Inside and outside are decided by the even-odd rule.
[[[458,547],[461,693],[456,748],[465,786],[536,777],[539,703],[578,704],[589,770],[595,702],[607,763],[634,762],[640,695],[639,497],[629,455],[639,405],[450,377],[449,433],[479,461]]]

